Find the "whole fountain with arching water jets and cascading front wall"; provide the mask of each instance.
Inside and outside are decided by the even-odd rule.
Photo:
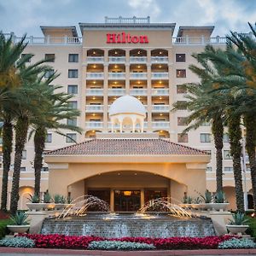
[[[101,212],[88,212],[90,207]],[[148,201],[135,213],[108,210],[108,204],[95,196],[79,197],[58,218],[46,218],[41,233],[107,238],[215,235],[210,218],[192,217],[191,212],[166,201],[165,198]]]

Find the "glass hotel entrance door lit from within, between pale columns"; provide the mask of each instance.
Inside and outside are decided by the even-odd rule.
[[[114,212],[137,212],[141,207],[140,190],[114,190]]]

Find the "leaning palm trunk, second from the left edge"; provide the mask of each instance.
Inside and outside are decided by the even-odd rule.
[[[20,188],[20,165],[22,151],[26,143],[28,130],[28,118],[19,117],[15,126],[15,164],[11,192],[10,213],[15,214],[18,208],[19,188]]]

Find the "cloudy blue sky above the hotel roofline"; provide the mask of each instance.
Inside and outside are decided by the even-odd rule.
[[[39,26],[77,26],[104,17],[147,17],[178,26],[215,26],[212,36],[249,32],[256,0],[0,0],[0,31],[42,37]]]

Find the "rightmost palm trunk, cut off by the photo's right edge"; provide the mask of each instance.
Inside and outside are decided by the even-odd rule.
[[[251,179],[253,188],[253,209],[256,212],[256,118],[253,114],[246,114],[244,123],[247,128],[246,148],[249,156]]]

